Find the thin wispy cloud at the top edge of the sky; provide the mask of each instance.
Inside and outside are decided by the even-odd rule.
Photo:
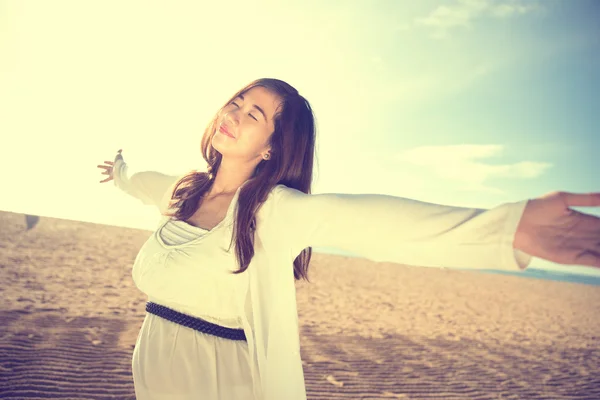
[[[425,17],[415,18],[414,25],[430,29],[433,38],[442,39],[447,37],[452,29],[471,28],[472,23],[480,18],[507,18],[527,14],[539,8],[536,3],[516,0],[500,4],[493,0],[457,0],[451,5],[438,6]]]

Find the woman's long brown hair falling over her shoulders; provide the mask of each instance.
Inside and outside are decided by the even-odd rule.
[[[235,239],[235,252],[240,269],[232,272],[234,274],[244,272],[254,256],[256,212],[267,199],[271,189],[283,184],[307,194],[311,193],[316,129],[315,117],[308,100],[284,81],[263,78],[240,89],[221,109],[240,94],[243,95],[256,86],[262,86],[278,95],[282,102],[274,116],[275,130],[269,142],[271,157],[269,160],[260,161],[254,174],[239,193],[232,241]],[[202,136],[202,157],[208,163],[208,172],[193,170],[184,175],[177,182],[169,203],[169,207],[175,208],[175,211],[164,215],[187,220],[200,207],[200,201],[210,189],[221,164],[221,153],[211,145],[219,122],[217,112]],[[307,247],[294,260],[296,280],[304,278],[310,282],[308,266],[311,256],[312,248]]]

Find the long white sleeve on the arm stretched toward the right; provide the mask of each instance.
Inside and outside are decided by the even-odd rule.
[[[414,266],[522,270],[513,247],[528,200],[492,209],[451,207],[381,194],[306,194],[273,189],[271,235],[292,254],[334,247],[373,261]]]

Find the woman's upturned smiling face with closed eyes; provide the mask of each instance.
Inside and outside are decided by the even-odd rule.
[[[262,86],[233,99],[219,112],[212,146],[223,157],[260,162],[270,149],[268,142],[275,130],[273,116],[280,103],[279,96]]]

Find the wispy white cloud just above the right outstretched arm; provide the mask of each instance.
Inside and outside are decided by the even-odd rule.
[[[488,164],[486,159],[502,155],[502,145],[421,146],[398,155],[402,162],[430,170],[439,178],[461,184],[459,190],[502,193],[485,185],[493,178],[532,179],[542,175],[552,164],[521,161],[512,164]]]

